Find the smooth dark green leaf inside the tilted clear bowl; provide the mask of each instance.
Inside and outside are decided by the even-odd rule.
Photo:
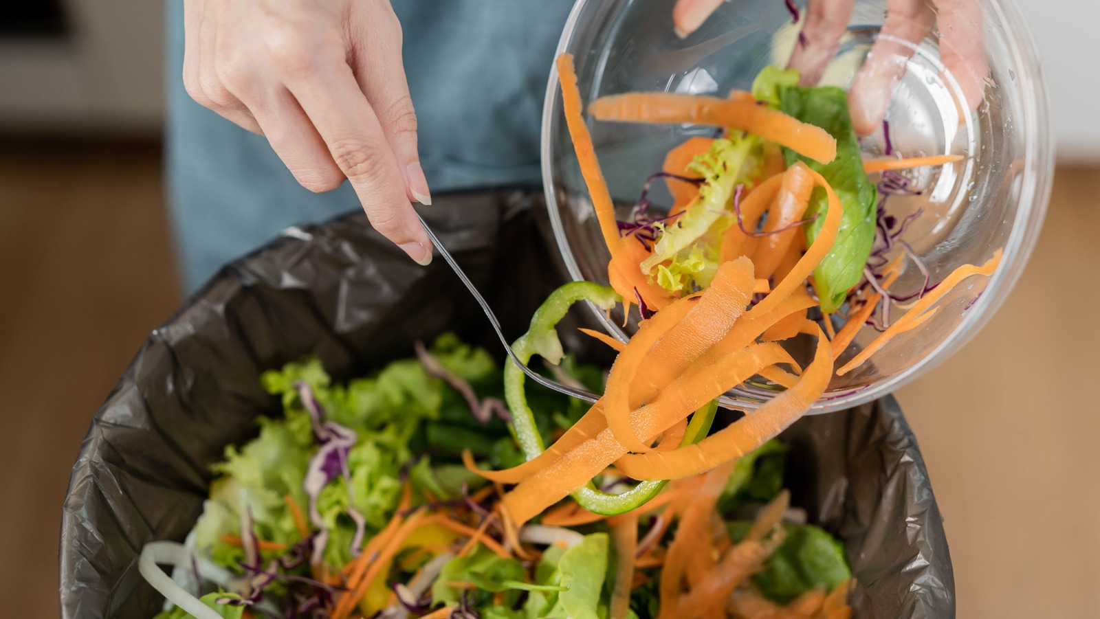
[[[822,311],[839,309],[848,295],[848,289],[859,284],[871,254],[875,241],[875,217],[878,190],[864,172],[864,161],[859,155],[859,140],[851,128],[848,115],[848,98],[844,90],[821,86],[812,88],[779,87],[780,109],[810,124],[817,125],[836,139],[836,158],[829,164],[820,164],[787,151],[787,164],[802,161],[822,176],[836,191],[844,215],[833,250],[814,270],[814,283],[821,296]],[[810,197],[806,217],[820,214],[806,225],[806,244],[813,244],[825,223],[828,198],[821,187]]]

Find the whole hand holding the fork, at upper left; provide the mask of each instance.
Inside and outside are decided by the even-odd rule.
[[[388,0],[186,0],[184,85],[267,137],[311,191],[346,178],[371,224],[420,264],[431,203]]]

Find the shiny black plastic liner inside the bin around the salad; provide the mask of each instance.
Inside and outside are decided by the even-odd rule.
[[[424,209],[513,336],[562,280],[531,214],[540,203],[518,191],[476,192]],[[446,330],[503,356],[447,264],[415,265],[362,213],[289,229],[226,266],[152,332],[91,422],[64,506],[62,616],[147,618],[161,609],[138,555],[146,542],[184,539],[210,465],[227,444],[255,435],[257,414],[277,413],[261,373],[317,354],[346,379],[410,356],[414,341]],[[562,331],[566,346],[585,345],[575,330]],[[942,517],[898,404],[805,418],[783,439],[792,502],[845,542],[861,584],[857,616],[954,617]]]

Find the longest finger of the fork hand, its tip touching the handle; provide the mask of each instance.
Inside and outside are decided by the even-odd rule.
[[[371,224],[419,264],[431,243],[405,195],[405,178],[382,123],[359,88],[343,49],[300,56],[287,86],[351,181]]]

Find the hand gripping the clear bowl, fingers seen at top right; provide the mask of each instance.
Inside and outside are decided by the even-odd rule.
[[[672,12],[676,32],[686,36],[721,4],[722,0],[678,0]],[[803,86],[817,84],[836,55],[854,5],[855,0],[809,0],[802,35],[790,64],[802,71]],[[894,88],[905,75],[906,60],[913,55],[906,43],[919,44],[937,24],[945,73],[958,81],[967,107],[971,111],[978,108],[989,73],[978,0],[887,0],[886,23],[848,90],[857,133],[867,135],[882,123]]]

